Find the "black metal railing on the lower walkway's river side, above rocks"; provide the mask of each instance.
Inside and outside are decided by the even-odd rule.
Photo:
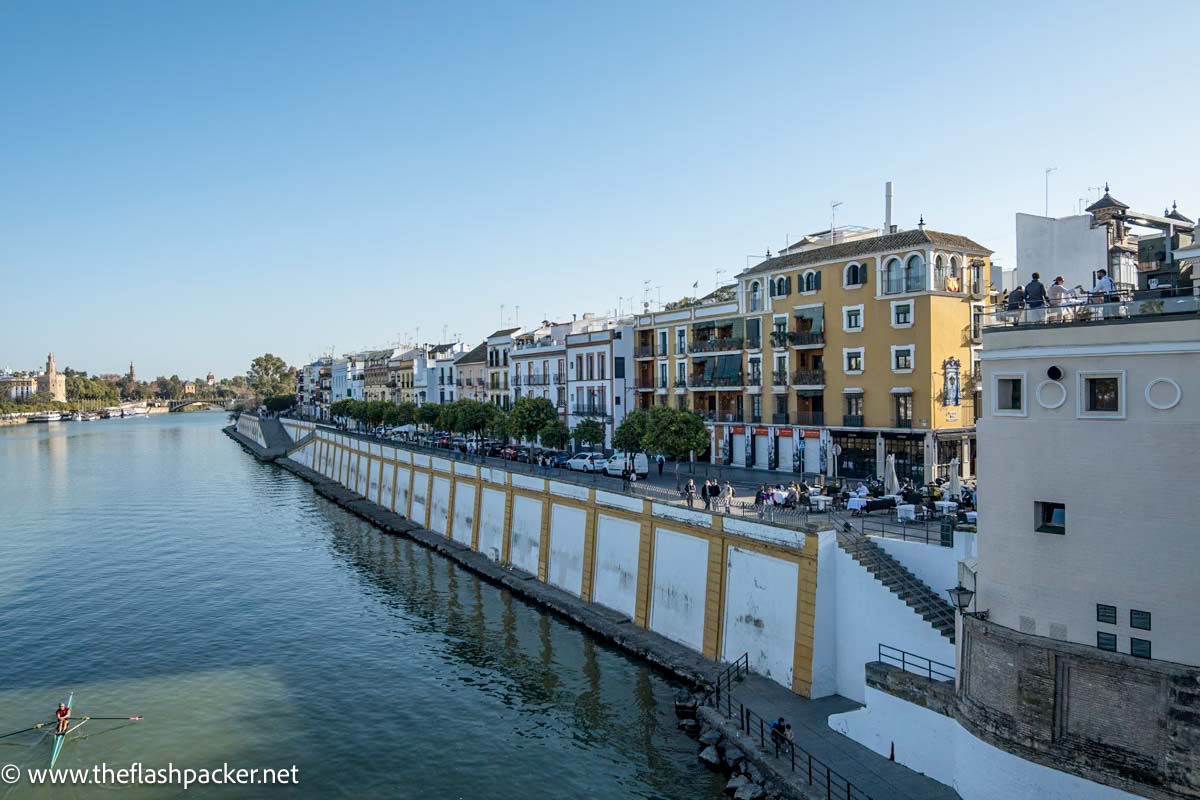
[[[738,729],[750,736],[751,741],[758,740],[758,748],[767,756],[774,753],[776,760],[782,759],[791,768],[793,775],[799,775],[808,781],[809,786],[824,790],[827,800],[871,800],[866,794],[851,783],[840,772],[834,771],[820,758],[797,745],[788,741],[782,730],[772,728],[772,723],[755,714],[745,703],[734,703],[733,684],[742,680],[750,673],[750,655],[743,654],[737,661],[726,667],[713,681],[713,688],[704,697],[704,704],[715,709],[726,720],[737,720]],[[737,716],[734,716],[737,715]]]

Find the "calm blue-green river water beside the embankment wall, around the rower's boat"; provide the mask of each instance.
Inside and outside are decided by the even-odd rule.
[[[145,720],[86,723],[60,768],[295,765],[299,786],[53,796],[721,796],[678,685],[257,463],[226,423],[0,428],[0,733],[73,691],[76,716]],[[0,739],[0,765],[49,752]]]

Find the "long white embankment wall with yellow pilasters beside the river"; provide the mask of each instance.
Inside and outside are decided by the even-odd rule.
[[[798,694],[811,691],[815,528],[725,518],[294,420],[280,425],[296,444],[276,463],[376,524],[697,682],[718,662],[749,654],[758,674]],[[258,420],[242,415],[236,432],[265,456]],[[647,649],[646,633],[671,643],[660,648],[668,662]]]

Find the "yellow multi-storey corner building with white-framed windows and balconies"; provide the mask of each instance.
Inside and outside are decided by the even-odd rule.
[[[991,252],[956,234],[809,236],[738,276],[733,302],[647,314],[640,408],[712,423],[715,463],[934,480],[973,470],[978,307]]]

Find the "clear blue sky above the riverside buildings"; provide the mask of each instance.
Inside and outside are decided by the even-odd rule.
[[[877,225],[886,180],[1007,266],[1045,167],[1051,213],[1108,180],[1196,217],[1196,31],[1194,2],[7,2],[0,367],[475,342],[502,305],[709,288],[832,200]]]

